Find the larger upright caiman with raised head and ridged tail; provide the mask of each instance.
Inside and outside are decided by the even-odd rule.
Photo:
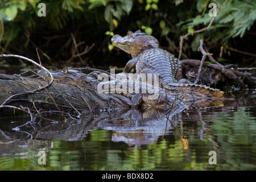
[[[170,52],[159,48],[158,40],[149,34],[139,30],[129,31],[124,37],[114,35],[112,43],[131,54],[133,58],[128,61],[123,72],[130,72],[132,68],[136,67],[136,72],[139,74],[157,73],[159,86],[171,95],[181,96],[184,94],[184,100],[190,99],[189,96],[200,100],[200,98],[222,98],[224,95],[224,92],[209,86],[179,82],[182,78],[179,60]],[[207,102],[207,100],[204,101]]]

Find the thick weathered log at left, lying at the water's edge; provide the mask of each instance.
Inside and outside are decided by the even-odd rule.
[[[95,88],[96,84],[93,85],[92,81],[86,82],[86,79],[92,80],[92,77],[82,72],[77,75],[83,77],[84,81],[54,80],[46,87],[49,81],[43,78],[0,74],[0,115],[5,114],[3,109],[10,109],[10,105],[27,107],[35,113],[39,113],[39,110],[56,110],[75,111],[77,114],[85,110],[97,113],[98,110],[125,110],[130,107],[129,98],[118,94],[100,94]]]

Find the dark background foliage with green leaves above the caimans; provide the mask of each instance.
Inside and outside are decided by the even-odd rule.
[[[218,2],[218,4],[216,4]],[[199,40],[226,64],[255,66],[256,3],[246,0],[3,0],[0,4],[1,53],[40,59],[48,65],[123,67],[129,57],[113,50],[113,34],[141,29],[154,35],[163,48],[179,54],[180,36],[187,36],[181,59],[200,59]],[[44,12],[45,10],[45,12]],[[118,56],[117,56],[118,54]],[[4,63],[7,64],[7,63]],[[61,65],[60,65],[61,64]],[[0,61],[1,66],[1,61]]]

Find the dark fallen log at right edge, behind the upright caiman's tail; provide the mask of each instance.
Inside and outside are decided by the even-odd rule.
[[[183,73],[191,82],[196,80],[191,73],[197,73],[201,61],[195,59],[180,60]],[[200,84],[212,86],[228,92],[232,87],[253,89],[256,87],[256,69],[237,68],[236,65],[221,65],[204,62],[199,78]]]

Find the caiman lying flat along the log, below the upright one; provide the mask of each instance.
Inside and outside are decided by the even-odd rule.
[[[47,79],[51,79],[45,71],[39,71],[40,75],[46,76]],[[139,82],[137,80],[129,79],[115,79],[112,81],[101,82],[99,77],[97,80],[92,75],[86,75],[81,71],[77,71],[72,68],[64,68],[61,71],[52,72],[53,81],[65,82],[73,85],[83,85],[86,88],[97,91],[101,94],[115,94],[115,97],[119,98],[125,104],[131,107],[158,107],[164,109],[172,109],[173,113],[179,113],[184,109],[187,109],[181,100],[178,100],[162,88],[147,84],[146,82]],[[102,87],[105,87],[102,89]],[[131,87],[131,90],[129,88]],[[154,90],[154,93],[144,92],[143,90]],[[157,97],[152,99],[152,96],[157,92]]]

